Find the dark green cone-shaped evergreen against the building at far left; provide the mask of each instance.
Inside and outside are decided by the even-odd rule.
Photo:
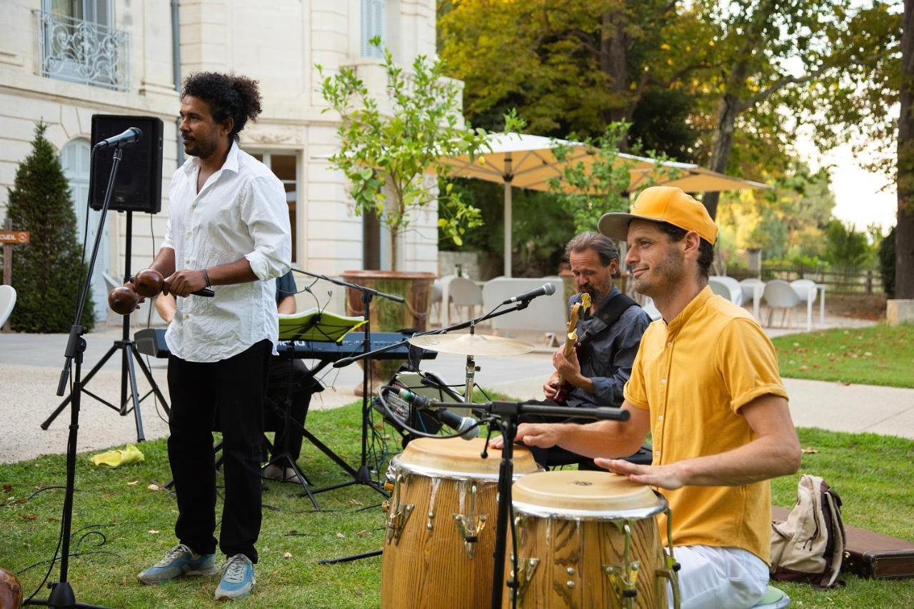
[[[27,230],[30,242],[16,246],[13,287],[16,308],[10,324],[20,332],[69,332],[88,264],[76,238],[76,214],[60,158],[45,138],[46,123],[37,123],[32,152],[16,168],[6,218],[13,230]],[[91,329],[91,290],[82,325]]]

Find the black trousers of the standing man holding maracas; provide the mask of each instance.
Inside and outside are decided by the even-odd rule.
[[[177,539],[199,554],[216,551],[216,468],[213,434],[222,429],[225,502],[219,549],[257,562],[260,535],[260,452],[263,395],[271,343],[261,340],[217,362],[168,358],[168,461],[175,480]]]

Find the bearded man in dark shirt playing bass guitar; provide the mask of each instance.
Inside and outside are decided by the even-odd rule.
[[[609,238],[583,232],[569,241],[565,253],[579,292],[569,299],[569,311],[578,314],[576,327],[569,327],[569,333],[576,331],[579,346],[570,349],[568,356],[565,346],[559,347],[552,357],[556,371],[543,385],[543,393],[547,403],[558,397],[566,406],[621,406],[622,388],[632,374],[634,356],[651,319],[612,284],[612,276],[619,270],[619,251]],[[581,305],[583,294],[590,298],[589,307]],[[521,419],[557,422],[536,416]],[[531,450],[540,465],[577,463],[590,468],[593,463],[558,447]]]

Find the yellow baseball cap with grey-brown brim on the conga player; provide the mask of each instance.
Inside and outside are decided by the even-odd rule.
[[[611,239],[624,241],[628,238],[628,225],[633,219],[669,222],[682,230],[695,230],[711,245],[717,241],[717,224],[707,213],[707,208],[682,188],[644,188],[629,213],[603,214],[597,229]]]

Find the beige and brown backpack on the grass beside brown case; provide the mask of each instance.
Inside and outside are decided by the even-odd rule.
[[[771,523],[771,579],[838,586],[845,541],[841,497],[819,476],[800,476],[796,506]]]

